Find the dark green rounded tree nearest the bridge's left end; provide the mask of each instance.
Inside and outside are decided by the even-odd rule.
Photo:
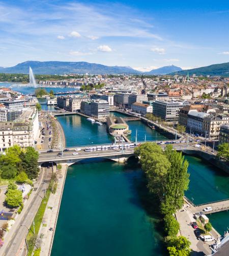
[[[37,178],[39,167],[39,154],[33,147],[27,147],[25,152],[20,155],[23,169],[30,180]]]

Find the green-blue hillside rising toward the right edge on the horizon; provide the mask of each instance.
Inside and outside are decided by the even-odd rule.
[[[187,69],[177,72],[179,75],[212,75],[212,76],[229,76],[229,62],[221,64],[213,64],[201,68]],[[174,74],[174,73],[173,73]]]

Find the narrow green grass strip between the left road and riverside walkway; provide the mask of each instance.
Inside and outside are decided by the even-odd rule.
[[[34,249],[34,241],[37,238],[37,235],[38,235],[41,223],[42,223],[44,212],[45,212],[45,209],[46,209],[46,206],[47,206],[47,203],[48,203],[48,198],[49,198],[49,195],[51,193],[52,184],[53,184],[53,180],[51,179],[51,181],[49,183],[49,186],[48,186],[48,189],[46,191],[46,197],[44,197],[42,199],[41,205],[40,205],[40,207],[39,207],[39,209],[37,211],[37,214],[36,214],[36,216],[34,218],[35,234],[33,232],[34,231],[33,224],[31,225],[30,230],[28,231],[28,234],[27,234],[27,237],[26,237],[26,241],[28,243],[28,256],[32,255],[32,252],[33,252],[33,249]]]

